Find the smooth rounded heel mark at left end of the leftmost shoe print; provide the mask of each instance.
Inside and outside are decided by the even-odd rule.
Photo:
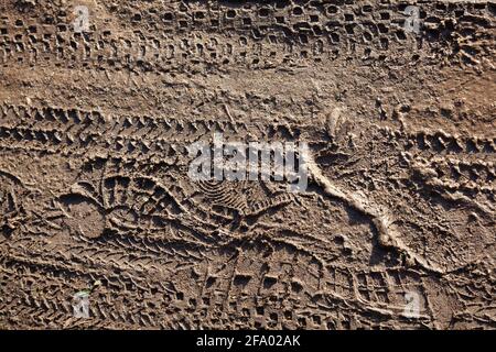
[[[93,199],[69,194],[60,198],[66,215],[64,223],[71,231],[77,231],[84,237],[95,239],[104,233],[105,216],[99,205]]]

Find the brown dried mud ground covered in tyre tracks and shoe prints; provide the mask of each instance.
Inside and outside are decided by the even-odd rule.
[[[0,327],[494,329],[495,12],[0,0]],[[192,180],[214,132],[306,190]]]

